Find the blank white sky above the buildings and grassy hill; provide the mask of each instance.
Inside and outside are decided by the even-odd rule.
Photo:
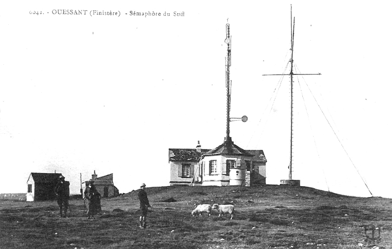
[[[230,136],[264,150],[267,184],[288,179],[290,78],[263,75],[290,73],[291,5],[294,73],[321,74],[294,76],[293,179],[392,198],[386,0],[2,1],[0,193],[26,192],[31,172],[63,174],[74,194],[94,171],[120,193],[168,186],[169,148],[225,137],[227,22],[230,117],[248,117]]]

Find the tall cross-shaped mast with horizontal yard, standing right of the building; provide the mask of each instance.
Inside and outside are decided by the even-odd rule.
[[[294,74],[293,72],[293,54],[294,54],[294,25],[295,25],[295,17],[293,21],[292,17],[292,5],[290,5],[290,27],[291,27],[291,59],[290,59],[290,74],[283,74],[283,75],[290,75],[290,95],[291,95],[291,112],[290,112],[290,164],[289,164],[289,181],[292,180],[292,173],[293,173],[293,75],[321,75],[319,74]],[[292,184],[292,183],[289,183]],[[299,181],[298,181],[299,185]]]

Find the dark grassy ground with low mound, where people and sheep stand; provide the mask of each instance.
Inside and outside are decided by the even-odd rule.
[[[0,248],[6,249],[358,249],[391,248],[392,199],[341,196],[308,187],[153,187],[147,228],[138,228],[137,191],[102,199],[96,220],[70,200],[59,218],[55,201],[0,200]],[[172,200],[172,202],[165,202]],[[174,201],[175,200],[175,201]],[[192,217],[194,204],[232,203],[237,214]],[[365,226],[381,229],[364,241]],[[375,236],[378,235],[376,230]],[[359,245],[362,243],[363,246]]]

